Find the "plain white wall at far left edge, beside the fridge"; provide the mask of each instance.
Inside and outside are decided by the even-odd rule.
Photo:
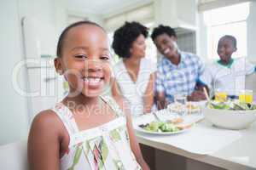
[[[26,98],[17,94],[12,86],[12,71],[22,59],[18,0],[0,1],[0,144],[26,137]],[[25,72],[20,72],[20,85],[26,87]]]

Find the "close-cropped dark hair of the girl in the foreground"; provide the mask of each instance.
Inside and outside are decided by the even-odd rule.
[[[96,24],[95,22],[92,22],[90,20],[82,20],[82,21],[79,21],[79,22],[75,22],[73,23],[72,25],[70,26],[67,26],[62,32],[61,32],[61,36],[59,37],[59,40],[58,40],[58,44],[57,44],[57,57],[61,57],[62,55],[62,48],[63,48],[63,43],[64,43],[64,40],[65,40],[65,37],[67,36],[67,32],[72,29],[73,27],[76,27],[76,26],[80,26],[80,25],[93,25],[93,26],[98,26],[100,28],[102,28],[102,26]],[[104,31],[104,29],[102,28],[102,30]]]

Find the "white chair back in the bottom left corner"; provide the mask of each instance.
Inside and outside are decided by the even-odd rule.
[[[27,170],[26,141],[0,146],[1,170]]]

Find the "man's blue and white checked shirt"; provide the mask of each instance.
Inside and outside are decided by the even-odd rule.
[[[169,102],[173,101],[174,94],[190,95],[204,70],[201,59],[195,54],[180,52],[180,55],[178,65],[173,65],[166,57],[158,65],[155,91],[164,92]]]

